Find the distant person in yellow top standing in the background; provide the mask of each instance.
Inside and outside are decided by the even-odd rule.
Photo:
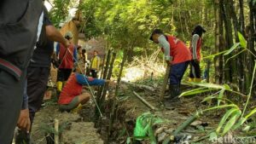
[[[100,71],[101,58],[98,56],[98,51],[93,51],[91,59],[90,73],[92,78],[97,78],[97,73]]]

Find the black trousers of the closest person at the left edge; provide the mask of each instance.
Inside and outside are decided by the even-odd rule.
[[[26,71],[20,81],[0,69],[0,143],[10,144],[20,115]]]

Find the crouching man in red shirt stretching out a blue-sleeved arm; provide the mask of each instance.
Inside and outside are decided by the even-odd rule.
[[[82,72],[84,72],[84,67],[80,65]],[[90,93],[83,92],[83,85],[103,85],[108,83],[108,80],[96,79],[91,77],[86,77],[81,73],[79,66],[75,67],[76,70],[73,72],[67,80],[64,88],[61,90],[61,95],[59,97],[59,109],[63,111],[71,111],[78,107],[79,104],[84,105],[90,100]]]

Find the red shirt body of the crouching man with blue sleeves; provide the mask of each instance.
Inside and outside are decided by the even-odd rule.
[[[61,90],[58,103],[61,105],[70,103],[75,96],[81,95],[82,89],[83,86],[77,82],[75,73],[71,74],[67,80],[67,84]]]

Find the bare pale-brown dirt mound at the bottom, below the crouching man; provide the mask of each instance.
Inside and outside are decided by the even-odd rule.
[[[45,144],[45,135],[53,136],[54,119],[59,120],[60,142],[64,144],[103,144],[94,124],[84,122],[78,113],[60,112],[56,104],[37,113],[32,127],[34,143]],[[50,138],[50,139],[51,139]]]

